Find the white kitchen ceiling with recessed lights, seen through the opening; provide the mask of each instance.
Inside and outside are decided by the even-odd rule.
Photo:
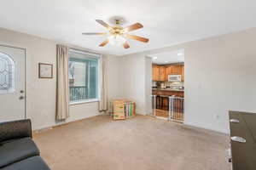
[[[152,63],[158,65],[166,65],[172,63],[184,62],[184,51],[176,50],[170,52],[163,52],[159,54],[150,54],[148,57],[152,58]]]

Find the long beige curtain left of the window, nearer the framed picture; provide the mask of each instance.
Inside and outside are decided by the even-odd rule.
[[[58,44],[57,54],[57,95],[56,119],[65,120],[69,116],[69,85],[68,85],[68,47]]]

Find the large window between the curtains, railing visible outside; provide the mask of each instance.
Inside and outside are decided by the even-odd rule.
[[[98,99],[99,55],[69,50],[68,77],[70,102]]]

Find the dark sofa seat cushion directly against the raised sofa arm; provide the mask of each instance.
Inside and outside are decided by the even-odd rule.
[[[8,140],[0,145],[0,167],[31,156],[39,156],[38,147],[31,138]]]

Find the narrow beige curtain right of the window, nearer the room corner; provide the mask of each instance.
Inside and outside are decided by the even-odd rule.
[[[107,56],[101,56],[100,59],[101,73],[100,73],[100,102],[99,111],[108,111],[108,94],[107,94]]]

